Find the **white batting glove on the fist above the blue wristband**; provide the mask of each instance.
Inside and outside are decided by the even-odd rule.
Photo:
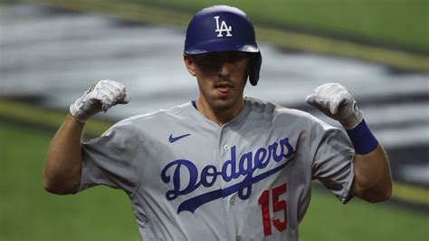
[[[327,116],[338,120],[346,130],[351,130],[362,121],[362,111],[348,90],[339,83],[324,83],[305,99]]]

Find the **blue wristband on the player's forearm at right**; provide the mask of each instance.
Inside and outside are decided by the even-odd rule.
[[[368,154],[378,146],[378,141],[367,127],[365,120],[362,120],[354,129],[347,130],[347,133],[358,155]]]

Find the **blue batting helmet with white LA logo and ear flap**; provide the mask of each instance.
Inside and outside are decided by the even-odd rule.
[[[256,44],[253,24],[236,7],[215,5],[194,15],[187,26],[185,53],[239,51],[254,53],[250,61],[249,81],[256,85],[261,70],[262,55]]]

